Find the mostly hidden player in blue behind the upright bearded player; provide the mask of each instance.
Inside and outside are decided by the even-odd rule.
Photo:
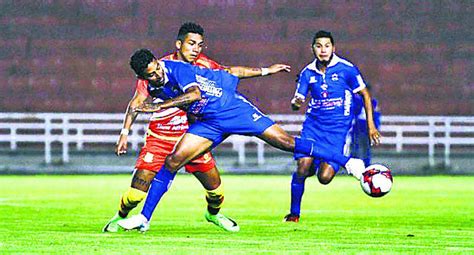
[[[367,84],[370,91],[370,86]],[[374,109],[374,124],[380,130],[382,114],[379,109],[378,101],[372,95],[372,107]],[[367,129],[367,115],[364,109],[363,98],[356,94],[354,96],[354,121],[351,129],[351,155],[360,158],[366,166],[371,164],[372,152]]]

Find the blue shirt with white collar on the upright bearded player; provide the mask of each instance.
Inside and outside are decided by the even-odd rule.
[[[307,117],[322,130],[347,132],[353,119],[353,94],[366,87],[358,68],[333,55],[323,73],[317,59],[301,71],[295,96],[305,99],[311,93]]]

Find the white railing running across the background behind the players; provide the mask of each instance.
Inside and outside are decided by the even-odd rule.
[[[141,115],[131,130],[129,142],[138,150],[143,142],[147,115]],[[286,131],[297,134],[303,115],[271,115]],[[62,161],[69,162],[69,146],[82,150],[84,144],[114,144],[122,125],[120,113],[0,113],[0,143],[9,143],[16,150],[18,143],[44,144],[46,163],[51,163],[51,146],[60,143]],[[382,118],[383,144],[393,145],[402,152],[406,145],[428,147],[430,166],[435,164],[435,146],[443,145],[444,163],[450,165],[453,145],[474,147],[474,116],[384,116]],[[238,162],[245,164],[246,145],[257,146],[257,162],[265,163],[265,143],[255,137],[232,136],[224,143],[232,144],[238,153]]]

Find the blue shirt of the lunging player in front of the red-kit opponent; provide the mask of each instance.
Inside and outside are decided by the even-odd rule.
[[[181,61],[163,60],[165,84],[162,87],[148,85],[154,98],[163,100],[184,94],[186,89],[198,86],[202,99],[192,103],[188,112],[196,116],[213,117],[225,114],[235,107],[239,78],[223,70],[193,66]]]

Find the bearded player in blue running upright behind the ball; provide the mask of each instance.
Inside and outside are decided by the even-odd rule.
[[[330,32],[317,32],[313,37],[312,48],[315,59],[301,71],[291,102],[293,110],[298,110],[306,100],[306,95],[311,94],[301,138],[312,139],[318,145],[324,144],[336,152],[344,153],[354,117],[353,97],[359,93],[364,99],[369,137],[374,144],[378,144],[380,133],[373,121],[370,94],[358,68],[334,53],[334,39]],[[341,165],[309,153],[295,153],[295,159],[297,170],[291,180],[291,208],[283,219],[291,222],[299,221],[306,178],[317,174],[321,184],[328,184]]]

